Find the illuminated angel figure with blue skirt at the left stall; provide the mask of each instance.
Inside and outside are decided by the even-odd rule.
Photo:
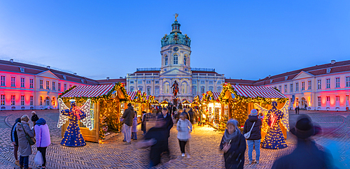
[[[83,135],[80,133],[78,126],[78,120],[83,122],[87,128],[92,130],[91,118],[90,118],[90,99],[87,99],[85,104],[81,107],[76,106],[74,99],[70,100],[71,108],[66,107],[61,98],[58,98],[59,103],[59,121],[57,126],[61,127],[66,120],[69,120],[69,125],[66,128],[66,132],[61,141],[61,145],[68,147],[80,147],[86,145]]]

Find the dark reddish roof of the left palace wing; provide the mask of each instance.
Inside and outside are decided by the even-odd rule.
[[[21,72],[20,68],[23,67],[25,68],[24,72]],[[57,71],[52,68],[45,68],[41,66],[35,66],[31,64],[23,64],[19,62],[11,62],[11,61],[5,61],[5,60],[0,60],[0,70],[2,71],[13,71],[13,72],[18,72],[18,73],[28,73],[32,75],[36,75],[38,73],[42,73],[44,71],[51,71],[53,74],[57,76],[57,78],[61,80],[69,80],[73,82],[78,82],[78,83],[83,83],[83,84],[98,84],[96,80],[92,80],[90,78],[85,78],[83,76],[79,75],[73,75],[71,73],[66,73],[63,71]],[[64,79],[64,75],[66,76],[66,79]],[[82,80],[84,82],[82,82]]]

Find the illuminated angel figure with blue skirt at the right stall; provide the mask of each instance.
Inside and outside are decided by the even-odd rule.
[[[286,140],[284,140],[283,133],[279,127],[279,122],[281,121],[283,126],[289,131],[288,105],[289,101],[286,101],[283,108],[279,110],[276,108],[277,102],[272,101],[272,109],[267,110],[255,103],[255,108],[264,115],[262,131],[267,131],[265,139],[261,144],[262,148],[283,149],[287,147]]]

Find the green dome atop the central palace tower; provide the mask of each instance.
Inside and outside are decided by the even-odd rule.
[[[190,47],[191,40],[187,36],[187,34],[183,35],[181,33],[180,26],[181,24],[179,24],[179,22],[175,20],[175,22],[172,24],[172,32],[170,32],[169,35],[165,34],[162,40],[160,40],[160,42],[162,43],[162,47],[174,44],[186,45]]]

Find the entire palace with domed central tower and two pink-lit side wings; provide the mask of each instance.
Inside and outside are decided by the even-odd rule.
[[[207,91],[221,92],[223,83],[274,87],[290,98],[290,109],[349,110],[350,60],[311,66],[297,71],[269,75],[260,80],[226,79],[214,68],[191,67],[191,39],[182,34],[175,20],[172,31],[160,43],[160,68],[137,68],[125,78],[92,80],[47,67],[0,60],[0,109],[56,109],[57,97],[73,86],[123,82],[127,91],[141,91],[155,100],[173,100],[172,84],[179,84],[179,101],[193,101]]]

